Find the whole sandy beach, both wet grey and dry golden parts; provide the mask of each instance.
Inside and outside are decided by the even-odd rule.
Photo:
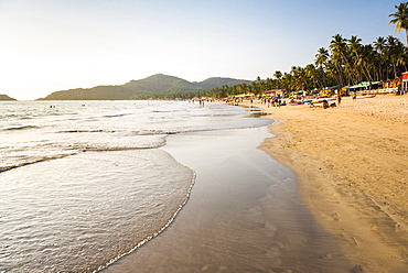
[[[196,173],[190,200],[103,272],[406,272],[408,97],[241,105],[273,135],[171,135],[164,151]]]

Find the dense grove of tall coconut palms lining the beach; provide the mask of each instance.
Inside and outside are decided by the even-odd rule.
[[[395,8],[396,12],[388,15],[391,18],[389,23],[396,24],[396,32],[407,32],[408,2]],[[163,95],[163,98],[190,99],[204,96],[221,99],[238,94],[260,96],[271,89],[312,92],[330,87],[377,81],[379,88],[397,88],[401,84],[401,73],[407,70],[408,48],[397,37],[379,36],[369,44],[363,44],[356,35],[344,37],[342,34],[335,34],[329,45],[318,50],[314,63],[305,67],[293,66],[289,73],[276,70],[271,78],[261,80],[257,77],[250,85],[223,86],[200,94],[168,94]]]

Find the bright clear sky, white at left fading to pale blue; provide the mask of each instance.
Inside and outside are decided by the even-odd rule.
[[[332,36],[395,33],[400,0],[0,0],[0,94],[19,100],[154,74],[255,80]]]

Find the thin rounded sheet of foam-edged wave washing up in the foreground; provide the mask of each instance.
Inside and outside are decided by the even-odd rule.
[[[93,271],[165,227],[192,181],[191,170],[160,150],[82,153],[7,172],[1,266]]]

